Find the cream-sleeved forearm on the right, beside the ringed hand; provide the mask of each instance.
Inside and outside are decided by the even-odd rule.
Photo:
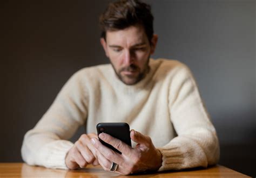
[[[159,171],[207,167],[219,160],[218,138],[215,132],[206,129],[191,130],[158,149],[163,160]]]

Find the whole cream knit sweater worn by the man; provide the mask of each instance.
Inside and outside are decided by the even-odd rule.
[[[130,129],[150,136],[160,150],[159,171],[217,163],[217,134],[190,70],[176,60],[150,59],[149,65],[150,72],[133,86],[120,81],[111,65],[75,73],[25,134],[23,160],[67,169],[65,156],[73,146],[68,139],[80,125],[87,133],[96,133],[99,122],[126,122]]]

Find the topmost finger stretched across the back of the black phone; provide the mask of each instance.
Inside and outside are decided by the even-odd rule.
[[[125,155],[130,155],[132,152],[132,147],[125,144],[123,141],[110,136],[107,133],[100,133],[99,138],[105,141],[105,143],[112,145],[114,148],[116,148],[118,151]]]

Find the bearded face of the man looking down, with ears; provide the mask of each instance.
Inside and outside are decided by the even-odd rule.
[[[148,72],[157,35],[153,36],[150,45],[143,27],[130,26],[124,30],[107,31],[106,41],[102,38],[100,42],[119,79],[132,85],[142,80]]]

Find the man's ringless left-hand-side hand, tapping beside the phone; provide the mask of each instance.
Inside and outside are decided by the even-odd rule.
[[[95,146],[91,143],[92,138],[97,138],[97,135],[95,133],[82,134],[69,150],[65,158],[66,166],[69,169],[83,168],[90,163],[93,166],[99,165]]]

